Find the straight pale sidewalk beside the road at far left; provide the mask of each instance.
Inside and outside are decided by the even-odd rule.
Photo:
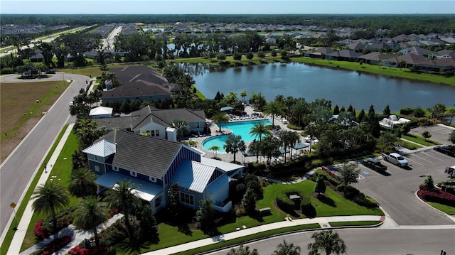
[[[60,155],[60,151],[62,151],[63,146],[66,143],[66,140],[68,139],[68,136],[70,136],[71,131],[73,130],[74,124],[69,124],[68,128],[65,130],[65,133],[63,134],[62,138],[58,142],[57,147],[55,147],[55,151],[50,156],[49,162],[47,162],[47,169],[43,171],[41,174],[41,178],[38,180],[38,185],[42,185],[48,180],[50,176],[50,172],[52,171],[52,168],[57,161],[58,156]],[[33,210],[32,210],[32,205],[33,201],[28,201],[26,210],[23,211],[23,215],[21,217],[21,221],[18,222],[18,230],[16,230],[16,233],[14,234],[13,239],[11,240],[11,245],[9,246],[7,254],[19,254],[19,251],[21,250],[22,242],[23,239],[26,237],[26,232],[27,232],[27,227],[28,224],[31,224],[33,222],[31,221],[31,217],[33,216]]]

